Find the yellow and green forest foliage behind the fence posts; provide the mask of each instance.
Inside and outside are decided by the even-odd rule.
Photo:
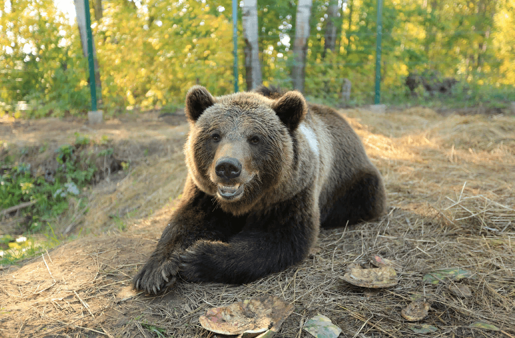
[[[245,90],[239,5],[238,84]],[[347,104],[372,103],[377,1],[339,0],[336,13],[330,5],[313,2],[304,94],[335,105],[348,78]],[[90,8],[101,108],[108,114],[176,107],[194,84],[214,95],[234,90],[230,1],[94,0]],[[264,84],[293,87],[296,9],[294,1],[258,1]],[[514,14],[515,0],[385,2],[382,101],[506,106],[515,100]],[[336,27],[333,50],[325,42],[330,23]],[[62,116],[91,109],[77,24],[53,0],[0,0],[0,46],[0,114]],[[410,93],[410,73],[458,83],[451,95],[422,87]]]

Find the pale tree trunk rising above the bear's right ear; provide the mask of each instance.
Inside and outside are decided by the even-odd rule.
[[[307,39],[310,37],[312,0],[299,0],[295,19],[295,41],[293,45],[294,65],[291,69],[293,87],[304,93]]]

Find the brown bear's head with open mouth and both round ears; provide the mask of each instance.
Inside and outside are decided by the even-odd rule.
[[[295,161],[293,132],[307,112],[302,94],[277,99],[258,93],[213,97],[202,86],[186,95],[190,133],[184,152],[195,184],[224,211],[242,215],[279,182]]]

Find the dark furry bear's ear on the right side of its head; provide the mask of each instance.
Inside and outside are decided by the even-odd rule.
[[[271,108],[276,112],[281,121],[286,124],[290,132],[299,127],[307,112],[306,100],[297,91],[286,92],[272,103]]]

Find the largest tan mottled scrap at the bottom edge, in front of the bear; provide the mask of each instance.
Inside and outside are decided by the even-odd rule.
[[[263,332],[255,338],[270,338],[293,310],[293,305],[287,305],[279,297],[263,296],[209,309],[199,322],[203,328],[220,334]]]

